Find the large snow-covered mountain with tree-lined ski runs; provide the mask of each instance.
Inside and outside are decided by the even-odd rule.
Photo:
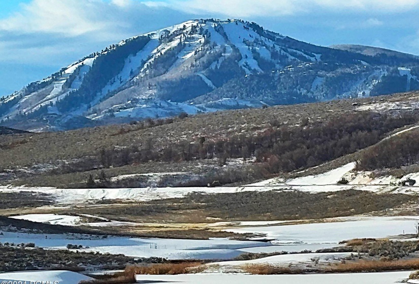
[[[0,99],[0,121],[62,130],[379,95],[419,89],[417,66],[413,55],[319,47],[241,20],[191,20],[112,45]]]

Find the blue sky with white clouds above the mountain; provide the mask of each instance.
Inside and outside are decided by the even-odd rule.
[[[418,13],[418,0],[0,0],[0,96],[109,44],[194,18],[419,55]]]

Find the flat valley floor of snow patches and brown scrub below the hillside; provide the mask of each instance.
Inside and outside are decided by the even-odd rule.
[[[35,250],[198,261],[200,273],[137,275],[140,282],[382,284],[406,280],[419,269],[416,251],[409,248],[405,254],[405,248],[400,248],[402,243],[419,245],[416,188],[391,183],[392,179],[367,181],[364,173],[353,169],[354,164],[347,163],[320,174],[244,187],[2,187],[0,194],[13,205],[0,208],[0,242],[13,249],[23,249],[18,245],[23,243]],[[342,178],[348,184],[337,185]],[[35,203],[13,203],[19,195],[31,196]],[[34,230],[37,224],[42,226]],[[58,231],[51,231],[54,228]],[[354,239],[359,246],[348,245]],[[346,264],[385,263],[381,253],[368,251],[371,245],[395,245],[396,254],[403,255],[392,255],[387,262],[394,264],[390,268],[337,273]],[[90,275],[121,267],[88,264],[79,268]],[[335,273],[325,274],[328,271]],[[30,273],[0,274],[0,278],[35,277],[35,272]],[[289,273],[299,274],[285,275]],[[67,277],[62,275],[51,277]]]

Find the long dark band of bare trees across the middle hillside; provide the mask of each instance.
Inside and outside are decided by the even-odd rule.
[[[149,138],[141,145],[124,149],[102,149],[98,153],[104,167],[122,166],[149,161],[190,161],[217,157],[220,165],[228,158],[256,157],[266,164],[270,173],[290,172],[330,161],[378,143],[385,133],[419,121],[419,115],[383,115],[348,113],[334,116],[326,122],[310,123],[306,118],[299,126],[271,122],[263,133],[255,136],[235,135],[229,139],[209,141],[199,137],[194,141],[172,143],[156,148]],[[123,134],[124,131],[118,134]]]

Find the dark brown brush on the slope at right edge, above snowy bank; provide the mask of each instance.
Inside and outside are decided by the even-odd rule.
[[[357,168],[400,168],[419,162],[419,130],[413,129],[366,149]]]

